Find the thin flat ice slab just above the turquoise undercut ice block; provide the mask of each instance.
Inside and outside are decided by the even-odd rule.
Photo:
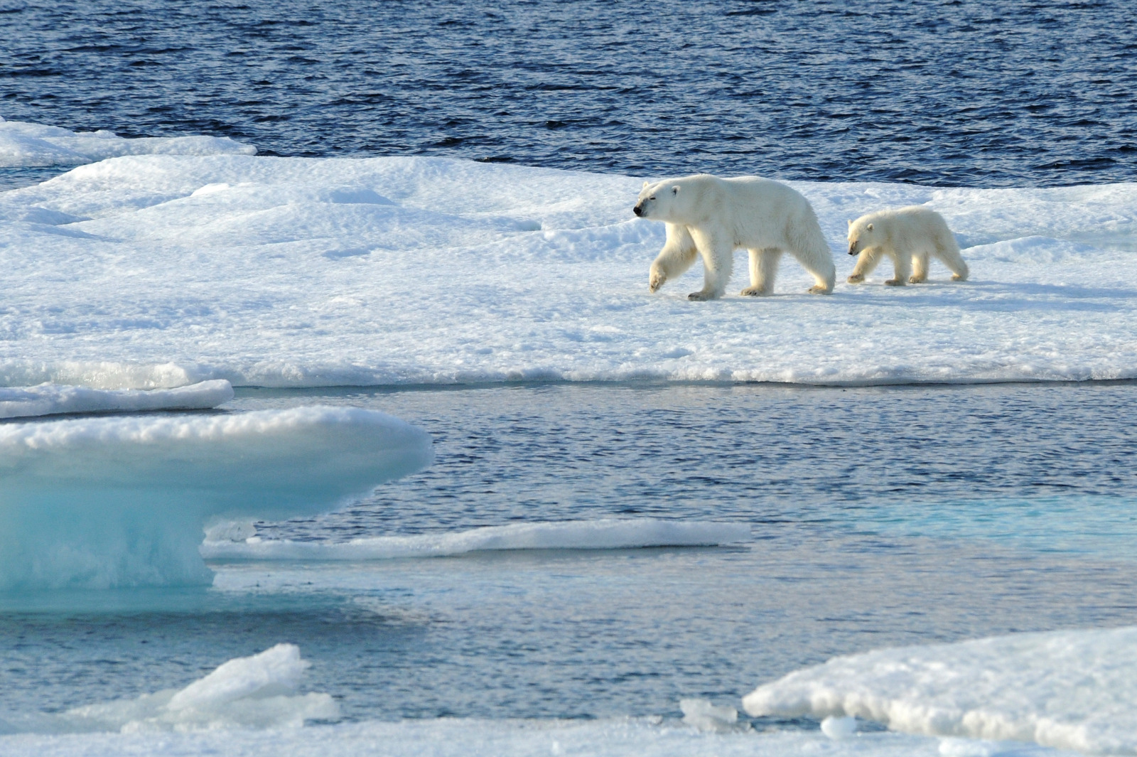
[[[0,389],[0,418],[24,418],[60,413],[200,410],[217,407],[231,399],[233,399],[233,386],[224,380],[151,391],[40,384]]]

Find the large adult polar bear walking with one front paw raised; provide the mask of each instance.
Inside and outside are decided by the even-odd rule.
[[[833,291],[836,269],[810,201],[767,178],[719,178],[698,174],[644,182],[633,211],[640,218],[667,224],[667,241],[652,264],[648,289],[657,291],[703,256],[704,284],[687,297],[713,300],[727,291],[735,250],[750,252],[750,285],[742,294],[770,294],[782,252],[789,252],[813,274],[814,294]]]

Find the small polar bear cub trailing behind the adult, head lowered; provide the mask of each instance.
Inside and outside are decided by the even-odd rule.
[[[885,283],[903,286],[928,281],[928,256],[952,271],[952,281],[968,277],[968,264],[960,257],[952,230],[944,217],[920,205],[896,210],[878,210],[849,222],[849,255],[856,265],[850,284],[864,281],[883,256],[893,258],[895,273]]]

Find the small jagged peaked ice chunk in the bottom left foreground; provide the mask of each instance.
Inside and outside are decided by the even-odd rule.
[[[339,707],[326,693],[298,694],[305,669],[294,644],[276,644],[239,657],[184,689],[158,691],[75,707],[25,723],[35,731],[190,732],[232,727],[300,727],[305,721],[337,719]],[[23,729],[22,729],[23,730]]]

